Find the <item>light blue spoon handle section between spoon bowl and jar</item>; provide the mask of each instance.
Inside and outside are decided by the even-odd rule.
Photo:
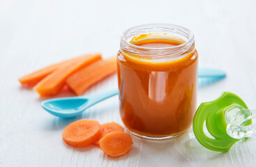
[[[101,101],[103,101],[103,100],[105,100],[109,97],[112,97],[112,96],[118,95],[118,94],[119,94],[119,90],[114,89],[114,90],[107,91],[105,93],[99,93],[99,94],[96,94],[96,95],[85,96],[86,98],[89,99],[87,107],[92,106],[92,105],[94,105],[98,102],[101,102]]]

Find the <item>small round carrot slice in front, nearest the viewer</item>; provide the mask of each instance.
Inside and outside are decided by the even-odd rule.
[[[100,148],[112,157],[119,157],[130,150],[133,140],[130,134],[124,132],[110,132],[100,139]]]

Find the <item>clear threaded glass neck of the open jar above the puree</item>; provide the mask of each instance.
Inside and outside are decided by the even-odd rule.
[[[181,44],[171,47],[142,47],[134,45],[133,42],[140,36],[144,36],[142,40],[175,40],[181,42]],[[195,51],[195,40],[193,33],[182,26],[146,24],[135,26],[125,31],[121,37],[120,48],[121,53],[126,56],[140,56],[142,59],[150,58],[156,61],[166,61],[166,59],[182,58]]]

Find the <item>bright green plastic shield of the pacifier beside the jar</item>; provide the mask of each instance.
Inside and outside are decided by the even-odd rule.
[[[200,104],[193,120],[193,131],[197,141],[205,148],[218,152],[226,152],[234,143],[241,140],[232,138],[226,132],[227,122],[225,111],[234,105],[240,105],[248,109],[245,102],[239,96],[229,92],[223,93],[216,100]],[[204,122],[206,122],[206,128],[213,138],[209,138],[204,133]],[[252,124],[252,120],[247,120],[243,123],[243,125],[250,124]]]

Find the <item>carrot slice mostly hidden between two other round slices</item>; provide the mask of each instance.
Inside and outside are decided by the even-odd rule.
[[[100,125],[100,137],[93,144],[100,146],[100,139],[106,136],[110,132],[123,132],[124,129],[116,122],[110,122]]]

